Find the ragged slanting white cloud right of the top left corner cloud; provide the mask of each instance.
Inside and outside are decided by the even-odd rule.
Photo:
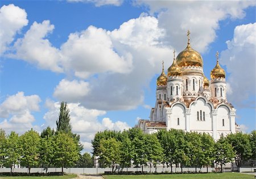
[[[34,22],[24,37],[15,42],[16,54],[11,57],[35,63],[42,69],[62,72],[63,69],[60,66],[61,54],[46,39],[53,29],[54,25],[50,24],[49,20],[44,20],[42,23]]]

